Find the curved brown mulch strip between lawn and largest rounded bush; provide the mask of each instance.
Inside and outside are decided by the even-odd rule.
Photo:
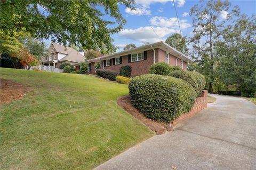
[[[141,114],[139,110],[134,108],[131,103],[130,95],[121,96],[119,99],[117,99],[117,104],[121,108],[129,112],[129,114],[139,119],[143,124],[145,124],[148,128],[150,128],[156,134],[164,134],[167,131],[172,131],[172,128],[170,127],[169,124],[151,120],[147,118],[145,115]]]

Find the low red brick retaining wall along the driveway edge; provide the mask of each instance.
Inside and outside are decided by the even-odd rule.
[[[185,114],[180,115],[177,119],[171,122],[172,126],[178,124],[182,120],[188,119],[191,116],[195,115],[200,110],[207,108],[207,90],[203,90],[201,96],[196,98],[193,108],[186,112]]]

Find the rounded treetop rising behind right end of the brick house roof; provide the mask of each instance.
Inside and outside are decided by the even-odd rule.
[[[188,47],[186,45],[186,37],[182,37],[180,34],[175,33],[171,36],[169,36],[165,43],[169,44],[171,47],[175,48],[176,50],[182,52],[182,53],[188,53]]]

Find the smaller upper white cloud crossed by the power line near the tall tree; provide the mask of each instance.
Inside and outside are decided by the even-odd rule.
[[[179,20],[180,21],[180,28],[186,29],[188,27],[191,27],[189,23],[187,23],[187,20]],[[150,19],[151,25],[154,26],[160,26],[160,27],[173,27],[178,28],[178,21],[177,18],[166,18],[166,17],[153,17]]]

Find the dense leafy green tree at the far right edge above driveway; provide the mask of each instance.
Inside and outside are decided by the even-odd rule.
[[[256,96],[256,17],[242,15],[223,31],[217,75],[226,86],[237,85],[242,96]],[[220,47],[219,47],[220,48]]]

